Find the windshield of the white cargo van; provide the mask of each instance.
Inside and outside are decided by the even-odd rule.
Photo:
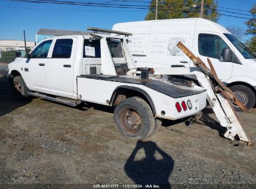
[[[255,58],[254,54],[248,50],[247,47],[245,47],[242,42],[240,42],[238,39],[235,38],[234,35],[232,34],[224,34],[227,39],[239,50],[239,52],[243,55],[244,58],[250,59],[250,58]]]

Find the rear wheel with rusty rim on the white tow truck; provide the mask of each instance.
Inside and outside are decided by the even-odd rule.
[[[146,139],[154,131],[152,110],[144,99],[126,98],[115,108],[116,129],[129,139]]]

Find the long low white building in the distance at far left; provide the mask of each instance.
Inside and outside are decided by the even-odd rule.
[[[27,48],[34,48],[35,42],[26,42]],[[0,52],[9,50],[25,50],[24,40],[0,40]]]

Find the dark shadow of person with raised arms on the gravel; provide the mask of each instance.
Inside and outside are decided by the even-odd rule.
[[[146,157],[141,160],[135,160],[136,154],[140,149],[145,150]],[[156,152],[159,153],[156,159]],[[125,173],[136,184],[141,185],[159,185],[161,188],[171,188],[169,185],[169,176],[173,171],[174,160],[171,156],[159,149],[154,142],[138,141],[135,149],[131,153],[125,164]]]

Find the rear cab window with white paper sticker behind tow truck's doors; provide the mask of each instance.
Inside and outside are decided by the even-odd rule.
[[[83,58],[100,58],[100,40],[85,39],[83,44]]]

